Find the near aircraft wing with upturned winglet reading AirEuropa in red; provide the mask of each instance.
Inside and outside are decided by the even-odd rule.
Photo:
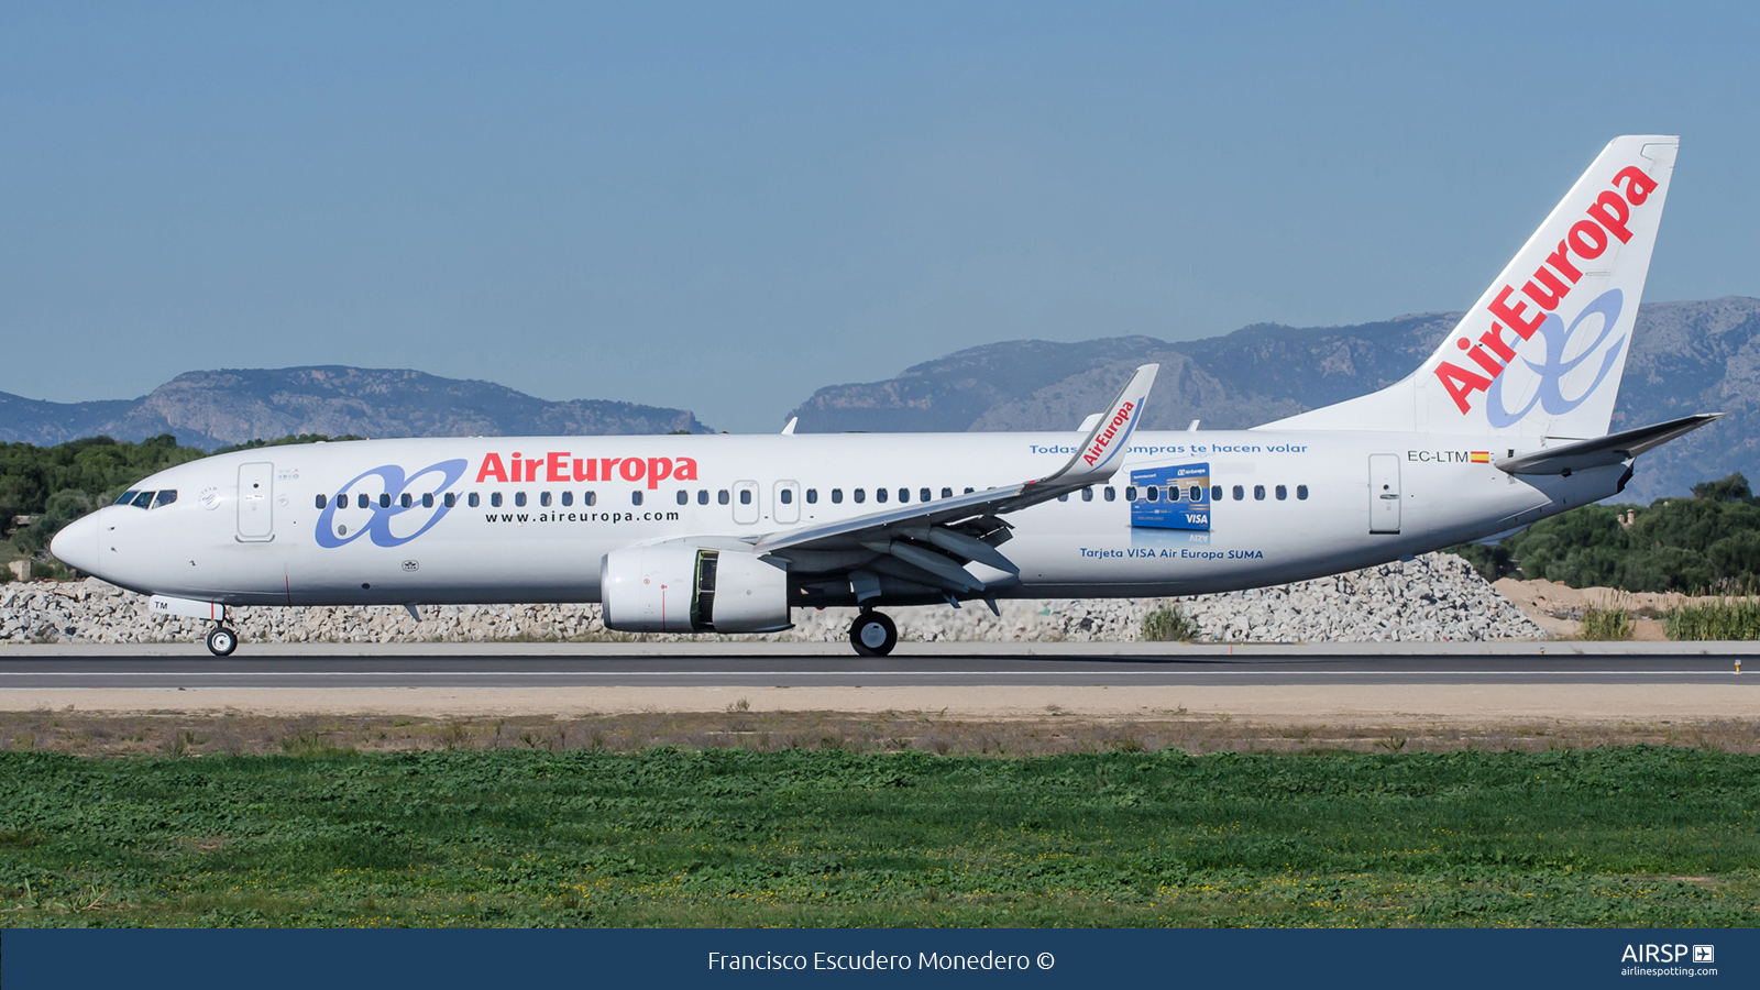
[[[848,574],[857,601],[880,595],[882,576],[903,590],[945,595],[982,594],[991,583],[1007,583],[1021,569],[996,550],[1008,539],[1008,523],[1000,516],[1112,477],[1142,421],[1156,370],[1160,365],[1137,368],[1068,463],[1045,477],[774,532],[759,537],[753,550],[787,558],[792,573],[822,573],[827,580]],[[986,581],[966,564],[982,564],[1007,578]]]

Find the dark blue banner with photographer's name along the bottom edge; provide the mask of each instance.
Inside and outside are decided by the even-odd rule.
[[[7,930],[67,986],[1646,986],[1760,981],[1755,930]]]

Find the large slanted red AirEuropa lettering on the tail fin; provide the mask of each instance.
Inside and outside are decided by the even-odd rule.
[[[1621,183],[1624,183],[1623,190]],[[1485,373],[1448,361],[1436,365],[1436,379],[1441,380],[1441,388],[1448,391],[1448,398],[1454,400],[1461,414],[1471,410],[1473,393],[1491,388],[1491,382],[1515,361],[1515,345],[1531,338],[1547,315],[1565,301],[1577,285],[1577,280],[1582,278],[1582,270],[1572,261],[1572,255],[1582,261],[1595,261],[1607,252],[1612,238],[1619,238],[1619,243],[1630,241],[1632,231],[1626,224],[1632,220],[1632,206],[1642,206],[1654,190],[1656,180],[1644,174],[1637,166],[1619,169],[1614,174],[1612,188],[1603,190],[1589,204],[1584,218],[1570,227],[1565,240],[1558,241],[1558,248],[1547,255],[1545,262],[1535,270],[1533,278],[1522,285],[1522,296],[1528,299],[1512,301],[1510,296],[1515,294],[1515,289],[1510,285],[1503,285],[1498,291],[1487,308],[1492,317],[1503,322],[1492,322],[1491,329],[1482,333],[1477,344],[1466,336],[1454,342]],[[1528,303],[1535,305],[1533,312],[1528,310]],[[1505,324],[1521,340],[1505,340]]]

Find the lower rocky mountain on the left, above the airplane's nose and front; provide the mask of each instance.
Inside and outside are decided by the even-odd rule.
[[[39,402],[0,393],[0,440],[60,444],[104,433],[174,433],[206,449],[289,433],[472,437],[669,433],[708,426],[683,409],[581,398],[544,402],[507,386],[385,368],[188,372],[136,400]]]

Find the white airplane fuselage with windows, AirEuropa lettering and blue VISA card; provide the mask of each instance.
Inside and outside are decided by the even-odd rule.
[[[1068,462],[1081,439],[817,433],[276,446],[158,472],[137,490],[174,490],[174,502],[104,507],[63,530],[55,551],[137,592],[224,604],[593,602],[611,551],[686,537],[755,541],[896,509],[901,490],[915,504],[924,490],[936,500],[1019,484]],[[1014,528],[1001,551],[1019,580],[993,580],[991,594],[1184,595],[1315,578],[1605,499],[1624,472],[1616,465],[1517,477],[1487,463],[1507,453],[1487,451],[1494,442],[1139,432],[1123,467],[1089,490],[1091,500],[1074,493],[1007,516]],[[1126,500],[1128,490],[1135,500]],[[847,604],[836,588],[797,594],[804,597],[790,604]]]

